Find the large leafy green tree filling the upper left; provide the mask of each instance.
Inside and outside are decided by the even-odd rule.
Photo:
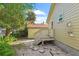
[[[33,9],[33,4],[0,4],[0,26],[6,28],[6,35],[25,25],[25,11]]]

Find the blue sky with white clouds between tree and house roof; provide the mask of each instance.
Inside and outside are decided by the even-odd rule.
[[[50,3],[36,3],[34,13],[36,14],[36,24],[46,23],[50,10]]]

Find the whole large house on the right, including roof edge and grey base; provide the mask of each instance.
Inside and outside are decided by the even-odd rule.
[[[52,4],[48,16],[53,21],[55,44],[72,55],[79,55],[79,3]]]

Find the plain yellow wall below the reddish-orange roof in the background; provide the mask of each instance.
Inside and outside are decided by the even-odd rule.
[[[43,38],[48,36],[48,28],[28,28],[28,38]]]

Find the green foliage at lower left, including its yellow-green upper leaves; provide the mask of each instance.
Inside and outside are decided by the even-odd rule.
[[[12,46],[9,45],[14,40],[15,40],[14,37],[0,36],[0,55],[1,56],[12,56],[16,54]]]

